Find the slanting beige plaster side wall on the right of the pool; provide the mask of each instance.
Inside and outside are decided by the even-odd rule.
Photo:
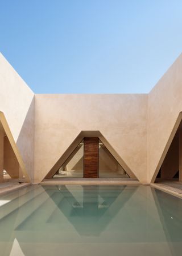
[[[181,111],[182,55],[148,94],[148,182],[155,180],[180,122]]]

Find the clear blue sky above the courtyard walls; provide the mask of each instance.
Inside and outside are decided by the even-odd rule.
[[[148,93],[182,51],[182,1],[0,0],[0,51],[35,93]]]

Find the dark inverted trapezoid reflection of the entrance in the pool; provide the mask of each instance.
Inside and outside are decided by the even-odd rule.
[[[57,186],[49,187],[46,192],[80,235],[99,235],[136,188],[128,190],[119,203],[117,198],[126,186],[114,186],[114,189],[110,186]],[[52,190],[55,193],[52,194]],[[48,218],[49,223],[61,221],[61,215],[56,212],[57,208]]]

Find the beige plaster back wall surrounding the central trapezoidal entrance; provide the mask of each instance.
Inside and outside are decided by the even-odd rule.
[[[147,179],[146,94],[36,94],[35,180],[82,130],[99,130],[136,177]]]

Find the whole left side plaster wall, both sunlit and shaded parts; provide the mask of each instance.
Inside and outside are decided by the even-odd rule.
[[[34,93],[1,53],[0,88],[0,111],[5,114],[14,141],[22,155],[28,174],[32,178],[34,173],[34,131],[32,130],[34,111],[31,111],[31,117],[30,114],[27,117],[27,113],[34,100]],[[27,126],[27,123],[31,125]]]

